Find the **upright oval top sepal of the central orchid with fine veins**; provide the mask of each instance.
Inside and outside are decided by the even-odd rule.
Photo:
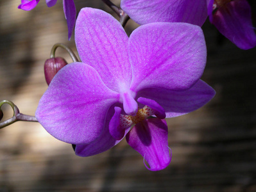
[[[81,61],[94,67],[108,88],[125,92],[132,81],[128,36],[112,15],[93,8],[81,9],[75,40]]]

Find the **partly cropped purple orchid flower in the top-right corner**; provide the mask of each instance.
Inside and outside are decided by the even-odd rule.
[[[188,22],[202,26],[208,13],[210,22],[237,47],[251,49],[256,45],[246,0],[121,0],[121,8],[139,24]]]

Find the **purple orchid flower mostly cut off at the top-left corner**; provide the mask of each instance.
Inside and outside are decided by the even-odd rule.
[[[19,9],[30,11],[37,6],[40,0],[21,0],[21,4],[18,6]],[[57,0],[46,0],[48,7],[54,6]],[[74,29],[74,24],[76,22],[76,6],[73,0],[63,0],[63,10],[65,14],[65,19],[67,20],[67,29],[69,31],[69,40]]]

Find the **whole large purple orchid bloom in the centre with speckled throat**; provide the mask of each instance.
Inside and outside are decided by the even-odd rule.
[[[78,156],[99,154],[126,137],[149,170],[166,168],[164,118],[201,108],[215,94],[200,80],[207,54],[201,28],[158,22],[128,38],[112,15],[83,8],[75,42],[82,63],[66,65],[53,78],[38,104],[38,122],[75,144]]]

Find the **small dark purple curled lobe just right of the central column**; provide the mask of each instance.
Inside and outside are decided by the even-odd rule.
[[[160,119],[166,118],[166,112],[164,111],[164,108],[162,108],[160,104],[155,102],[155,100],[139,97],[137,101],[153,109],[155,112],[155,116],[157,116],[157,118],[160,118]]]

